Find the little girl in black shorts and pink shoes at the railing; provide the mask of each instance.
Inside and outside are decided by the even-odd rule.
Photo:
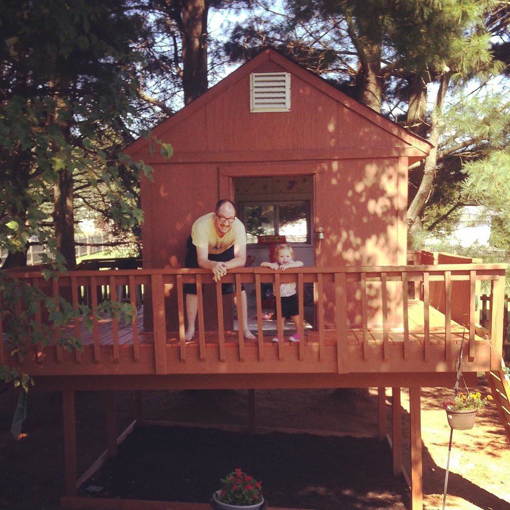
[[[294,250],[288,244],[280,244],[274,250],[276,262],[263,262],[261,267],[282,271],[289,267],[302,267],[303,263],[294,260]],[[297,301],[296,284],[280,284],[280,297],[282,302],[282,321],[290,317],[296,326],[296,333],[289,340],[291,342],[299,341],[299,329],[301,327],[301,317],[299,317],[299,305]],[[283,327],[283,325],[282,325]],[[273,342],[278,342],[278,337],[273,338]]]

